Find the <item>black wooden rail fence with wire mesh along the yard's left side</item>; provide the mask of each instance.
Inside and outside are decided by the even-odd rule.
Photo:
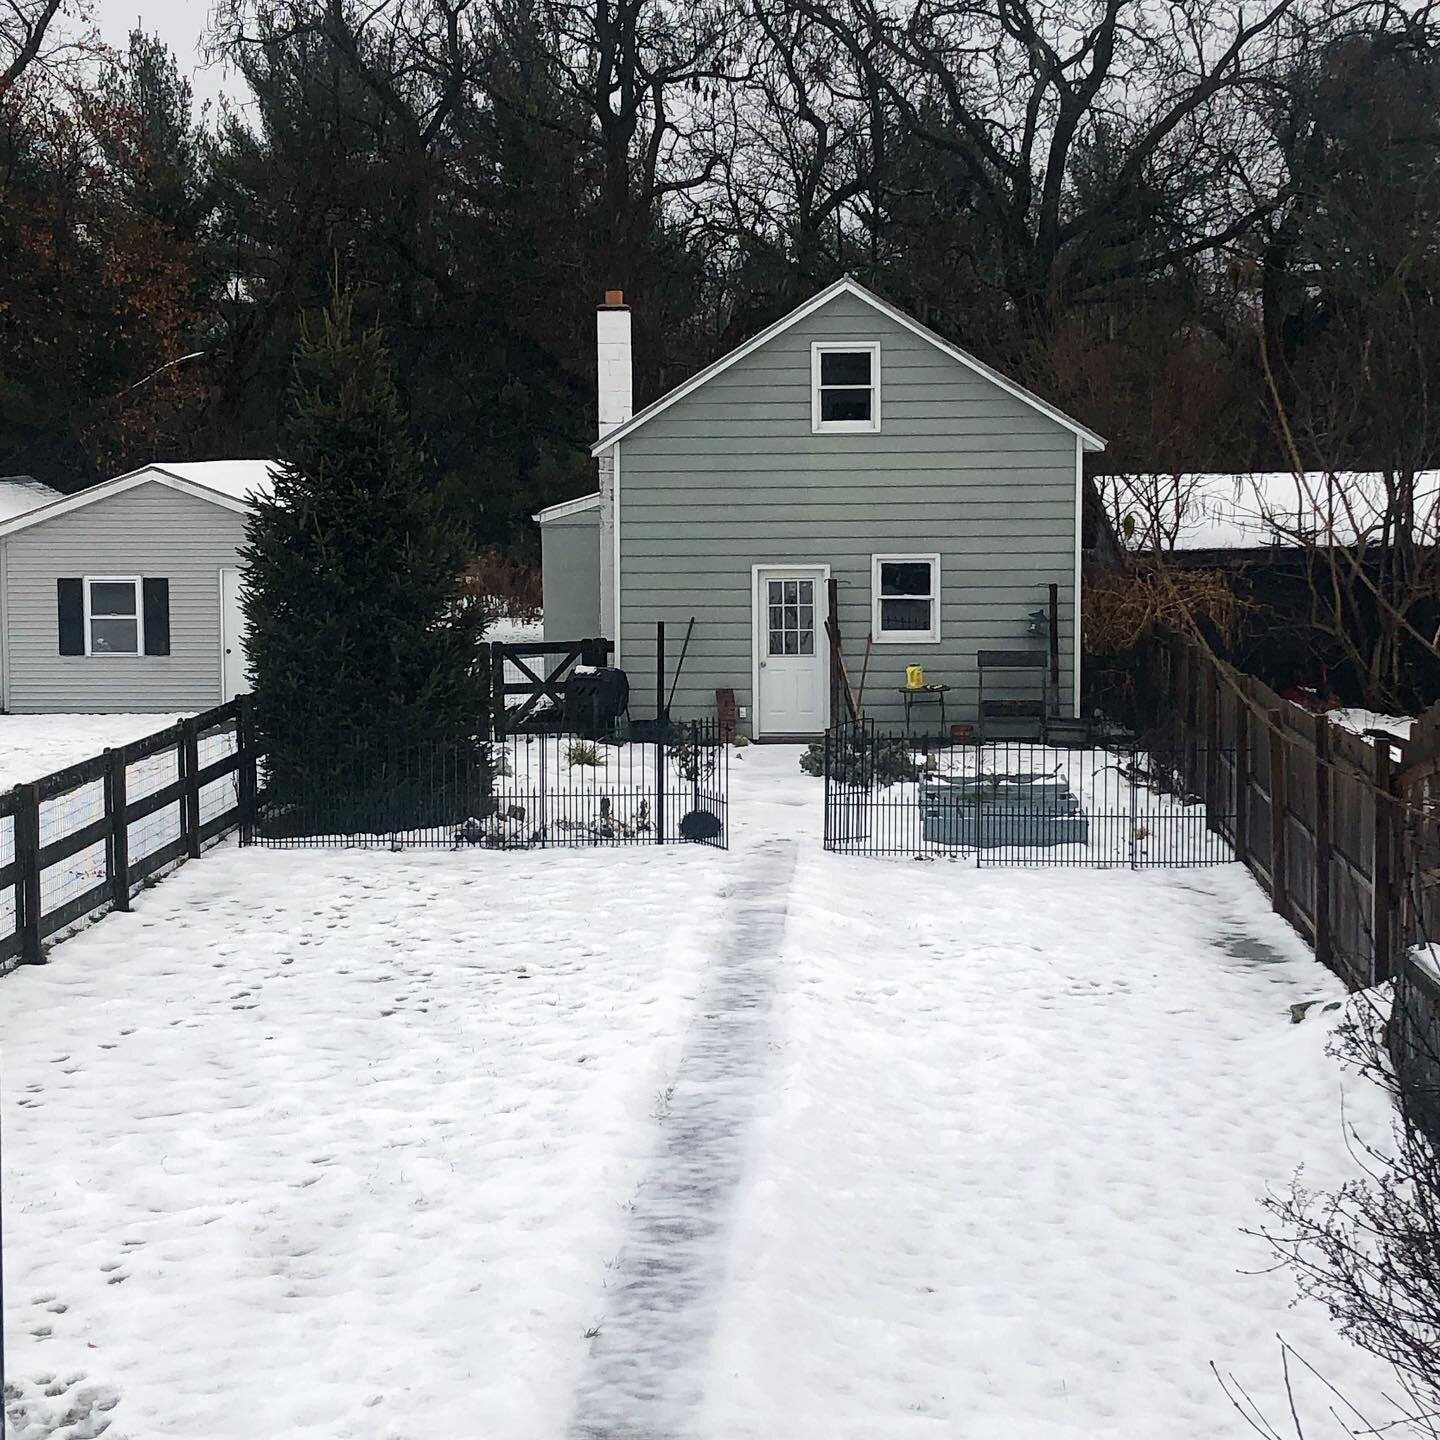
[[[240,701],[0,795],[0,971],[200,854],[252,812],[256,757]]]

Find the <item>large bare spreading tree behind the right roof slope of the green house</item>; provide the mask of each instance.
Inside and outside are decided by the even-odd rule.
[[[1233,245],[1284,193],[1256,101],[1299,0],[798,0],[968,187],[976,256],[1048,311]]]

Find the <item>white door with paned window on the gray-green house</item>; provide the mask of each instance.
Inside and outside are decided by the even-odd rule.
[[[824,592],[824,566],[776,564],[755,572],[756,736],[825,729]]]

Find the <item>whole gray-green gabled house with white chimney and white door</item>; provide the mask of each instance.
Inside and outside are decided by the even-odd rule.
[[[1044,648],[1028,618],[1058,586],[1060,697],[1080,694],[1083,456],[1104,441],[852,279],[841,279],[631,413],[629,312],[598,317],[596,494],[541,511],[547,639],[616,642],[652,713],[655,622],[696,631],[672,713],[734,691],[757,739],[828,723],[827,582],[880,721],[907,665],[975,720],[981,651]],[[1034,694],[1034,672],[985,697]],[[1005,688],[1001,688],[1005,687]],[[917,723],[920,717],[917,716]],[[924,723],[933,726],[926,713]]]

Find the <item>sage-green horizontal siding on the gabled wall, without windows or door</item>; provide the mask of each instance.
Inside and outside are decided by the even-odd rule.
[[[809,347],[878,340],[881,429],[811,433]],[[1061,704],[1074,651],[1076,439],[852,297],[840,297],[621,444],[622,664],[634,710],[654,707],[655,622],[674,657],[696,631],[675,713],[742,706],[752,681],[753,564],[824,563],[858,685],[877,553],[940,553],[939,644],[876,645],[865,710],[899,721],[906,664],[952,685],[949,720],[972,720],[975,652],[1041,642],[1027,613],[1060,586]],[[671,668],[674,658],[671,658]],[[1035,691],[994,681],[995,698]],[[753,713],[753,711],[752,711]],[[935,711],[917,710],[929,723]]]

